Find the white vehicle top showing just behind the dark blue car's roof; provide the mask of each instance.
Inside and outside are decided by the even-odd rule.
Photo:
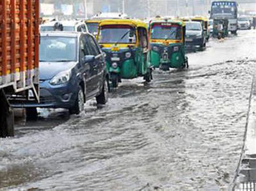
[[[48,22],[40,25],[40,31],[75,31],[89,33],[85,22],[81,22],[79,20],[62,20]]]

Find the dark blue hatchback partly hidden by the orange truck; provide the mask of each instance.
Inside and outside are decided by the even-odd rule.
[[[107,102],[109,91],[105,58],[89,33],[43,32],[39,51],[40,103],[16,103],[33,115],[36,108],[66,108],[79,114],[96,97]],[[29,95],[30,96],[30,95]]]

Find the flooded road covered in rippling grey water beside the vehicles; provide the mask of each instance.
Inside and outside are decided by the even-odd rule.
[[[0,139],[0,188],[219,190],[240,157],[256,66],[256,31],[241,31],[190,68],[124,81],[103,108],[39,119]],[[50,122],[50,123],[49,123]],[[39,125],[40,126],[40,125]],[[55,126],[55,127],[54,127]]]

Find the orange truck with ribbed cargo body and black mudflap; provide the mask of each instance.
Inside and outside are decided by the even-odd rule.
[[[14,136],[13,100],[39,102],[39,22],[39,0],[0,0],[0,137]]]

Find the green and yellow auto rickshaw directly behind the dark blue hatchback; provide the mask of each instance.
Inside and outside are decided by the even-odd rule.
[[[121,79],[143,76],[152,80],[146,23],[134,19],[107,19],[99,23],[98,42],[106,54],[112,87]]]

